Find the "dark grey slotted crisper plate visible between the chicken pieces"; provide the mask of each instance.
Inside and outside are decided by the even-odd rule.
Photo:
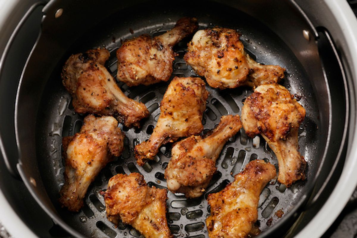
[[[172,23],[173,25],[174,23]],[[165,29],[170,29],[172,25],[165,25]],[[206,26],[201,26],[206,27]],[[162,27],[156,27],[150,31],[151,35],[158,35],[165,32]],[[139,32],[140,33],[140,32]],[[138,34],[139,34],[138,33]],[[149,33],[149,32],[145,32]],[[128,35],[128,38],[132,36]],[[125,39],[125,37],[123,38]],[[244,38],[241,39],[244,44],[248,44]],[[187,66],[183,60],[186,45],[188,40],[180,42],[174,47],[177,56],[174,61],[174,72],[172,77],[188,77],[197,75],[193,72],[190,66]],[[107,47],[110,49],[111,56],[106,66],[109,72],[116,77],[116,56],[115,51],[120,43],[115,43],[116,47]],[[114,44],[114,45],[115,45]],[[255,57],[254,55],[252,55]],[[171,77],[171,78],[172,78]],[[58,80],[58,79],[57,79]],[[169,81],[170,82],[170,81]],[[58,206],[58,211],[62,216],[66,217],[67,222],[75,229],[81,231],[91,237],[125,237],[133,238],[140,237],[140,233],[126,224],[119,224],[115,227],[106,219],[105,203],[100,195],[101,191],[107,188],[108,180],[117,173],[139,172],[144,177],[149,186],[158,188],[166,188],[164,172],[167,163],[171,157],[172,144],[166,144],[160,148],[159,153],[154,161],[150,161],[145,166],[140,167],[136,164],[134,157],[134,147],[142,141],[147,140],[152,133],[157,119],[160,115],[160,101],[166,91],[169,82],[157,83],[150,87],[137,86],[128,87],[127,85],[118,82],[121,90],[130,98],[135,98],[143,103],[150,111],[150,116],[144,119],[141,123],[141,128],[126,128],[119,125],[124,131],[125,145],[124,152],[119,158],[107,164],[97,176],[95,181],[89,187],[85,205],[79,213],[70,213],[59,208],[56,201],[57,194],[50,194],[55,206]],[[202,135],[212,130],[220,121],[220,117],[227,114],[240,114],[243,106],[243,101],[252,92],[249,88],[236,88],[234,90],[217,90],[206,86],[210,96],[206,102],[206,110],[203,114],[203,125],[205,130]],[[58,96],[60,95],[60,96]],[[52,161],[52,166],[55,171],[54,180],[57,181],[57,191],[63,185],[64,161],[61,157],[61,139],[63,136],[71,136],[78,132],[82,126],[82,120],[85,115],[79,115],[74,112],[69,93],[61,89],[57,96],[57,115],[49,118],[51,128],[46,131],[47,151],[49,151],[49,159]],[[305,122],[300,127],[300,151],[303,156],[306,151],[306,125]],[[243,129],[228,140],[223,147],[220,157],[217,159],[217,172],[213,176],[210,185],[202,197],[197,199],[186,199],[181,193],[168,192],[167,200],[167,220],[170,230],[175,237],[191,237],[205,238],[208,237],[205,219],[209,215],[209,207],[206,201],[209,193],[218,192],[223,189],[228,183],[233,181],[233,176],[242,171],[245,165],[253,159],[264,159],[267,162],[274,164],[277,168],[277,159],[274,153],[267,146],[267,143],[260,136],[254,140],[248,138]],[[278,222],[279,218],[275,212],[282,210],[288,213],[294,203],[301,196],[298,191],[303,187],[305,182],[297,182],[290,188],[286,187],[273,179],[263,190],[260,195],[258,205],[258,226],[261,231],[265,231],[268,227],[273,226]]]

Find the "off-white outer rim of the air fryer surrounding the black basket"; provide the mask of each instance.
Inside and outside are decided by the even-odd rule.
[[[15,9],[16,11],[23,10],[24,12],[26,11],[27,7],[31,5],[29,4],[30,1],[27,1],[28,5],[24,4],[24,1],[22,1],[21,4],[19,4],[19,2],[20,1],[7,1],[4,3],[4,7],[0,8],[0,31],[1,35],[4,36],[3,39],[7,39],[7,36],[10,35],[12,29],[14,29],[16,26],[16,21],[14,20],[17,17],[16,15],[11,15],[12,22],[10,23],[12,24],[9,24],[9,22],[6,21],[6,19],[10,19],[10,12],[13,12]],[[304,4],[311,6],[303,7]],[[354,81],[356,80],[357,75],[357,59],[356,57],[353,58],[353,56],[357,55],[357,31],[355,27],[357,25],[357,20],[347,2],[326,0],[325,4],[322,3],[317,8],[314,3],[306,4],[306,2],[303,2],[301,6],[307,13],[311,13],[311,9],[320,9],[319,11],[332,12],[333,16],[336,17],[336,19],[334,19],[334,17],[331,17],[331,14],[325,13],[326,18],[323,19],[322,17],[319,19],[320,21],[323,21],[323,23],[319,22],[318,19],[315,20],[330,30],[330,33],[336,42],[337,48],[341,52],[342,60],[344,61],[345,65],[349,66],[346,70],[348,74],[347,76],[349,79],[349,85],[354,86],[354,88],[350,88],[350,91],[356,91],[356,82]],[[313,16],[313,14],[309,14],[309,16]],[[21,15],[18,19],[20,19],[20,17]],[[330,27],[330,25],[333,27]],[[1,50],[4,49],[4,43],[5,41],[0,42]],[[351,115],[350,120],[350,143],[348,147],[345,167],[342,171],[336,188],[328,198],[323,208],[316,214],[312,221],[306,225],[306,227],[298,234],[297,237],[321,236],[323,232],[325,232],[326,229],[336,219],[356,187],[357,175],[353,172],[357,169],[357,161],[354,159],[355,155],[357,155],[357,148],[356,146],[351,146],[351,144],[353,144],[352,142],[357,140],[357,133],[355,128],[356,118],[354,115],[356,101],[354,94],[352,93],[351,95],[351,108],[353,108],[353,114]],[[29,229],[17,216],[14,210],[11,209],[9,203],[7,202],[7,198],[5,198],[1,191],[0,204],[6,207],[2,208],[3,210],[0,213],[0,220],[3,224],[5,224],[6,228],[9,229],[9,232],[12,235],[15,237],[35,237],[35,235],[31,232],[31,229]]]

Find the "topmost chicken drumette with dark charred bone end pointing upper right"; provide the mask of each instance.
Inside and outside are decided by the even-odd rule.
[[[141,35],[124,41],[116,51],[117,79],[128,86],[150,85],[169,80],[172,74],[172,62],[175,60],[172,46],[196,29],[197,19],[183,17],[165,34],[154,38]]]

